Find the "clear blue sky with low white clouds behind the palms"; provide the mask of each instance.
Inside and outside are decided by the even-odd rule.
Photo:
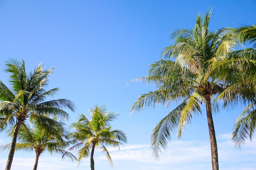
[[[45,68],[54,66],[49,88],[60,88],[54,98],[67,98],[76,105],[67,124],[81,113],[90,117],[88,109],[94,104],[106,104],[109,111],[119,113],[112,125],[126,132],[128,144],[120,151],[109,148],[114,167],[97,151],[98,170],[211,170],[206,115],[194,117],[180,140],[174,134],[155,161],[151,131],[175,104],[129,115],[137,97],[154,88],[140,82],[127,84],[147,75],[148,65],[171,45],[168,35],[179,27],[193,28],[196,15],[209,7],[212,31],[255,23],[255,0],[1,0],[0,70],[9,58],[25,60],[27,71],[40,62]],[[8,84],[3,71],[0,79]],[[242,109],[223,110],[213,117],[222,170],[256,170],[255,139],[241,150],[230,141]],[[4,132],[0,134],[0,146],[10,141]],[[0,153],[0,169],[5,168],[7,155]],[[34,159],[34,153],[16,152],[12,170],[32,169]],[[77,167],[76,162],[44,153],[38,170],[82,170],[89,169],[89,163],[84,159]]]

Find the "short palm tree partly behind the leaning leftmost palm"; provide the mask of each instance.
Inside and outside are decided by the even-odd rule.
[[[66,151],[64,150],[72,141],[65,141],[65,124],[61,122],[56,122],[57,127],[52,128],[52,131],[49,132],[47,129],[40,129],[36,125],[32,124],[22,124],[18,134],[18,142],[16,143],[16,150],[25,150],[29,152],[36,152],[36,161],[34,164],[33,170],[37,169],[38,159],[40,155],[48,151],[52,155],[57,153],[63,155]],[[13,135],[13,129],[9,130],[9,135]],[[5,144],[1,146],[1,150],[7,150],[11,147],[11,144]],[[76,157],[70,152],[66,152],[66,156],[74,160]]]

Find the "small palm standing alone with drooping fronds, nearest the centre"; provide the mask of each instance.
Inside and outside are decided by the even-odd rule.
[[[126,134],[121,130],[112,130],[110,122],[117,118],[117,113],[110,113],[106,106],[95,105],[90,108],[92,119],[88,120],[85,115],[81,114],[78,121],[71,124],[75,130],[69,136],[78,141],[76,145],[69,150],[78,150],[78,161],[85,157],[90,157],[91,170],[94,170],[94,150],[99,148],[106,154],[107,159],[113,166],[112,159],[106,146],[119,147],[122,142],[127,142]]]

